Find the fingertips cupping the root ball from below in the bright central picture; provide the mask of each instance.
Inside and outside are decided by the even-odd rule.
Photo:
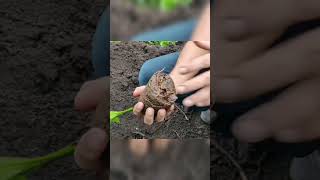
[[[143,93],[143,91],[145,90],[146,86],[140,86],[137,87],[134,91],[133,91],[133,96],[134,97],[139,97],[141,95],[141,93]],[[165,120],[166,117],[168,117],[174,110],[174,106],[171,106],[170,110],[167,112],[165,109],[160,109],[157,112],[157,115],[155,117],[155,112],[154,109],[149,107],[146,109],[146,112],[143,114],[143,107],[144,104],[142,102],[138,102],[134,107],[133,107],[133,113],[139,117],[143,116],[143,120],[145,124],[151,125],[154,123],[154,121],[156,122],[162,122]]]

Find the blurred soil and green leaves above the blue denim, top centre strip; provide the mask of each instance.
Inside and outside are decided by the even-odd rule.
[[[209,0],[174,0],[155,4],[148,0],[111,1],[111,40],[128,40],[139,33],[196,19]],[[175,2],[175,3],[172,3]],[[165,40],[165,39],[163,39]]]

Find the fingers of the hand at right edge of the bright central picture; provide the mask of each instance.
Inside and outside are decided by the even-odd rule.
[[[193,75],[192,78],[178,84],[176,91],[177,94],[194,92],[183,100],[184,106],[191,107],[195,105],[197,107],[205,107],[210,105],[210,41],[194,41],[194,44],[199,48],[207,50],[208,53],[192,59],[187,65],[176,67],[176,71],[182,75]],[[202,70],[205,71],[199,74]]]

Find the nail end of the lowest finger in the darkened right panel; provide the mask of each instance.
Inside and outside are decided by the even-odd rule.
[[[239,119],[232,125],[233,135],[241,141],[255,143],[271,135],[269,128],[255,119]]]

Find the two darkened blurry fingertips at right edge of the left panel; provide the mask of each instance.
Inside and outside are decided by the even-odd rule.
[[[96,109],[107,89],[107,77],[86,82],[75,98],[75,108],[80,111],[91,111]],[[107,122],[106,122],[107,123]],[[92,128],[85,133],[75,152],[75,160],[83,169],[95,170],[106,173],[107,162],[101,158],[107,148],[106,131]]]

